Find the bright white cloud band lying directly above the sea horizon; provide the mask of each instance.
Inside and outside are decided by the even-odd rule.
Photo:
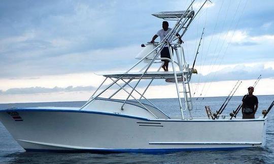
[[[255,82],[254,80],[243,80],[243,83],[235,92],[236,95],[244,95],[247,93],[247,88],[252,86]],[[196,91],[195,97],[202,93],[203,96],[227,96],[230,90],[235,85],[236,81],[221,81],[212,83],[192,83],[192,94],[194,90]],[[255,88],[255,95],[269,95],[273,94],[274,87],[273,78],[263,78],[260,80]],[[198,89],[197,89],[197,86]],[[202,88],[204,89],[202,91]],[[210,88],[209,88],[210,87]],[[139,88],[140,91],[144,88]],[[113,92],[114,90],[110,90]],[[164,94],[163,94],[164,91]],[[202,91],[202,92],[201,92]],[[86,101],[89,99],[93,91],[71,91],[71,92],[53,92],[53,93],[37,93],[37,94],[0,94],[0,103],[26,103],[26,102],[60,102],[60,101]],[[136,97],[140,97],[137,96]],[[121,92],[114,98],[125,99],[127,93]],[[176,87],[175,85],[152,85],[145,96],[148,99],[165,99],[165,98],[176,98]]]

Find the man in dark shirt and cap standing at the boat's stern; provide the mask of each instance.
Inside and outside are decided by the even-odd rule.
[[[258,98],[253,95],[254,87],[248,87],[248,94],[243,97],[243,119],[255,118],[255,113],[258,109]]]

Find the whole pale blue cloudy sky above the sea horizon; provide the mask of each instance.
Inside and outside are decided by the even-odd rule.
[[[184,10],[190,2],[2,1],[0,103],[87,100],[104,79],[96,74],[125,71],[137,61],[140,45],[161,28],[152,13]],[[260,74],[254,93],[274,94],[274,1],[212,2],[183,37],[192,63],[205,28],[194,96],[227,95],[236,80],[243,81],[235,93],[242,95]],[[158,81],[146,95],[176,97],[174,89]]]

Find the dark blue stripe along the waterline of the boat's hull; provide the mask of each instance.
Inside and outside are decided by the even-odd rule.
[[[178,151],[211,151],[211,150],[241,150],[250,147],[226,147],[226,148],[178,148],[178,149],[89,149],[89,150],[50,150],[50,149],[25,149],[31,152],[60,152],[60,153],[171,153]]]

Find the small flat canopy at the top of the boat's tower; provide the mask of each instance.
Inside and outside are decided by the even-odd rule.
[[[162,19],[180,19],[184,13],[186,13],[184,15],[184,18],[185,17],[191,18],[194,16],[193,10],[188,10],[187,12],[186,11],[163,11],[163,12],[155,13],[152,15]]]

